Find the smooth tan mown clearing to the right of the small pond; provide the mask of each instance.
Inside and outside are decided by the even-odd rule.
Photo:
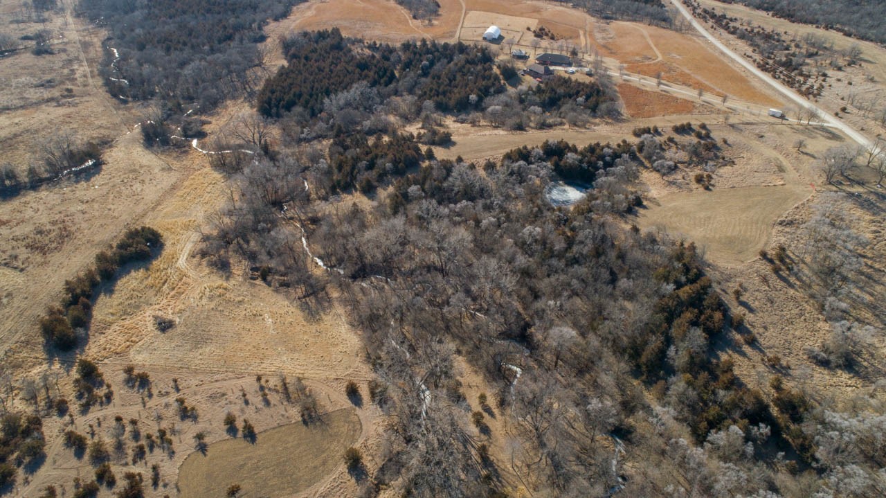
[[[757,257],[775,221],[808,196],[790,186],[678,192],[650,202],[637,222],[695,241],[711,261],[737,264]]]

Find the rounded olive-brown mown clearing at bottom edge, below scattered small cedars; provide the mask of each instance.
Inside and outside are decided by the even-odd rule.
[[[296,422],[260,432],[256,442],[242,438],[209,445],[206,455],[194,452],[179,471],[179,496],[214,498],[228,486],[242,486],[244,498],[297,494],[343,466],[346,447],[360,435],[353,409],[323,416],[320,424]]]

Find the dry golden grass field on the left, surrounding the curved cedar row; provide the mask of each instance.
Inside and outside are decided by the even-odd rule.
[[[0,3],[4,7],[0,12],[18,15],[15,5]],[[36,325],[39,317],[58,301],[65,280],[87,268],[95,254],[127,227],[149,224],[162,233],[166,246],[157,260],[133,268],[113,289],[106,289],[94,307],[82,356],[97,362],[105,373],[115,391],[113,402],[85,416],[77,412],[73,424],[66,418],[48,418],[46,464],[19,479],[12,494],[33,496],[48,484],[57,485],[63,495],[73,493],[74,478],[86,478],[92,469],[62,445],[60,435],[68,429],[88,432],[91,426],[97,437],[110,440],[113,418],[123,416],[137,419],[142,434],[161,426],[170,431],[175,453],[155,451],[138,465],[128,463],[128,455],[114,455],[113,470],[118,477],[125,471],[140,471],[147,479],[151,465],[158,464],[161,484],[146,488],[147,495],[175,495],[178,467],[194,450],[193,435],[206,432],[210,443],[229,438],[221,424],[227,410],[248,416],[259,431],[299,420],[298,409],[278,395],[272,394],[267,404],[262,401],[257,374],[267,376],[271,385],[281,374],[303,377],[321,408],[335,410],[350,406],[342,394],[345,379],[363,381],[369,377],[369,367],[361,360],[359,338],[337,307],[309,314],[284,294],[249,281],[239,268],[226,279],[193,256],[199,230],[206,229],[206,215],[226,198],[226,180],[190,147],[168,152],[144,148],[136,125],[144,120],[145,110],[120,104],[107,94],[97,76],[105,32],[70,15],[73,5],[73,0],[65,2],[66,13],[51,14],[45,25],[10,25],[16,34],[44,26],[56,30],[55,54],[37,58],[22,51],[0,59],[0,78],[14,90],[4,92],[5,106],[0,109],[4,160],[27,166],[38,160],[36,148],[42,140],[66,130],[107,144],[105,164],[96,175],[81,182],[53,183],[0,202],[4,373],[51,375],[58,377],[63,393],[73,392],[74,354],[47,358]],[[10,17],[2,19],[8,22]],[[35,89],[35,82],[48,79],[55,80],[54,87]],[[66,88],[73,89],[73,97]],[[207,130],[212,134],[245,108],[248,104],[236,103],[221,109],[209,116],[213,122]],[[173,319],[175,328],[166,334],[157,331],[158,315]],[[121,370],[127,364],[150,374],[150,393],[124,387]],[[178,396],[197,409],[198,421],[179,420]],[[353,409],[349,413],[353,417]],[[349,444],[378,430],[365,409],[360,416],[356,425],[351,418],[336,422],[337,427],[348,428],[336,432],[342,437],[351,434]],[[128,453],[135,444],[126,442],[121,451]],[[301,447],[310,454],[307,463],[314,461],[316,447],[307,443]],[[336,465],[339,449],[334,458],[330,456]],[[344,469],[321,473],[327,479],[318,486],[353,493],[353,479]]]

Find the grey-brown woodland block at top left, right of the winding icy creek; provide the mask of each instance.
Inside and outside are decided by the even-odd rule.
[[[204,111],[254,90],[268,19],[299,0],[81,0],[78,12],[108,27],[101,73],[114,97],[197,102]],[[137,27],[137,28],[136,28]]]

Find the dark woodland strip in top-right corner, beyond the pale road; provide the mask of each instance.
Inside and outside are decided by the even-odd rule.
[[[835,29],[845,35],[886,43],[882,4],[858,0],[720,0],[772,12],[783,19]]]

